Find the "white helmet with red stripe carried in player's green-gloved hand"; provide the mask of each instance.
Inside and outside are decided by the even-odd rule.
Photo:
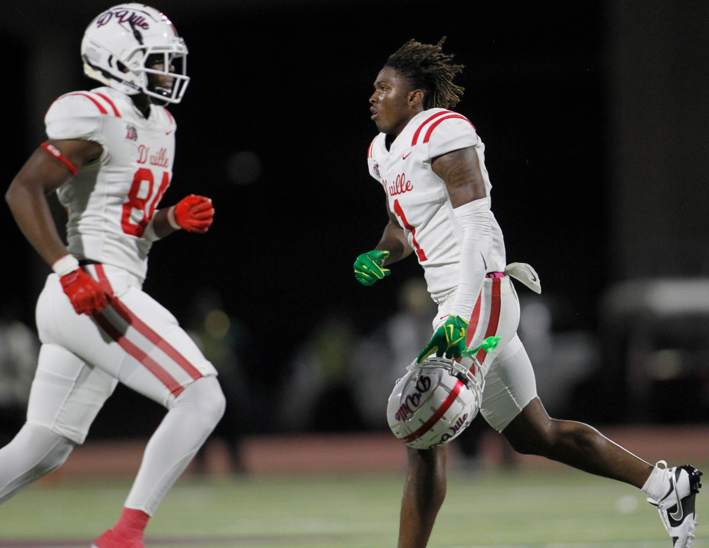
[[[414,449],[450,442],[478,414],[483,388],[480,364],[474,357],[466,357],[462,364],[435,356],[413,362],[389,396],[389,427]]]

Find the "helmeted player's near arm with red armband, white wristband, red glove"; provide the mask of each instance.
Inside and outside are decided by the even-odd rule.
[[[5,200],[32,247],[60,276],[62,289],[77,314],[99,313],[106,294],[79,262],[69,255],[50,213],[47,195],[65,184],[85,164],[98,159],[103,147],[88,140],[50,140],[38,147],[12,180]]]

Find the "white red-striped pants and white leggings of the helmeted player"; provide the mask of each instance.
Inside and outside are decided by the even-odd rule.
[[[27,423],[0,449],[0,502],[60,466],[121,381],[169,410],[126,501],[152,515],[220,420],[224,396],[216,369],[135,276],[101,264],[84,269],[112,291],[110,306],[79,315],[58,276],[48,276],[37,303],[43,345]]]

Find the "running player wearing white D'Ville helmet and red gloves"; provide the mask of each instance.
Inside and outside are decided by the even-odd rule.
[[[205,233],[211,200],[158,210],[172,181],[176,124],[164,108],[189,82],[187,48],[160,11],[115,6],[82,41],[84,72],[102,87],[57,99],[49,140],[13,179],[6,200],[52,266],[37,303],[42,349],[27,422],[0,449],[0,502],[61,466],[121,382],[167,408],[150,438],[121,518],[94,545],[141,548],[143,530],[220,420],[216,369],[177,320],[141,290],[152,242]],[[67,209],[65,247],[45,195]]]

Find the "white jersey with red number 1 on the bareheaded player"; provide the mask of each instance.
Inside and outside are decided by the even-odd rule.
[[[409,245],[424,269],[428,291],[440,301],[458,285],[462,230],[445,183],[432,160],[447,152],[475,147],[488,201],[492,185],[485,167],[485,145],[464,116],[445,108],[429,108],[411,118],[386,149],[386,134],[369,145],[369,173],[384,186],[389,208],[403,227]],[[505,269],[502,230],[490,212],[492,247],[485,257],[487,272]]]

